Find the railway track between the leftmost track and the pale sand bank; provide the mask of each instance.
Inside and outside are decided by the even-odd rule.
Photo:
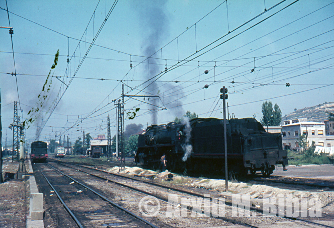
[[[62,164],[62,165],[67,166],[67,165],[64,165],[64,164]],[[204,198],[204,195],[194,193],[194,192],[189,192],[187,190],[183,190],[183,189],[179,189],[179,188],[172,188],[170,186],[164,186],[164,185],[157,184],[157,183],[152,183],[152,182],[149,182],[149,181],[143,181],[143,180],[139,180],[139,179],[133,178],[133,177],[128,177],[128,176],[123,176],[123,175],[119,175],[119,174],[109,173],[109,172],[106,172],[104,170],[99,170],[99,169],[96,169],[96,168],[94,169],[94,168],[91,168],[91,167],[85,167],[85,166],[81,166],[81,165],[77,165],[77,166],[81,167],[81,169],[71,167],[71,166],[67,166],[67,167],[76,169],[78,171],[81,171],[81,172],[84,172],[86,174],[95,176],[97,178],[101,178],[101,179],[106,180],[106,181],[110,181],[110,182],[115,183],[117,185],[120,185],[122,187],[127,187],[129,189],[139,191],[139,192],[144,193],[146,195],[154,196],[154,197],[156,197],[156,198],[158,198],[162,201],[165,201],[165,202],[167,202],[168,199],[163,197],[163,196],[168,195],[168,194],[178,194],[181,197],[193,197],[193,196],[195,196],[195,197]],[[82,168],[83,169],[89,169],[91,171],[94,170],[94,172],[104,173],[106,175],[105,176],[96,175],[96,174],[93,174],[92,172],[87,172],[87,170],[84,171],[84,170],[82,170]],[[108,176],[110,177],[110,175],[113,176],[112,179],[108,178]],[[157,187],[162,188],[164,190],[157,191]],[[155,194],[153,192],[155,192]],[[209,199],[211,199],[211,201],[214,200],[214,198],[207,197],[207,196],[205,198],[206,199],[209,198]],[[225,200],[225,205],[231,207],[232,203],[230,201]],[[198,208],[192,208],[192,207],[188,206],[187,209],[188,210],[194,210],[195,209],[196,211],[205,213],[205,214],[207,214],[211,217],[212,216],[216,217],[216,215],[213,215],[210,212],[205,212],[205,211],[200,210]],[[259,213],[263,213],[263,210],[261,208],[251,207],[251,210],[259,212]],[[277,214],[277,216],[278,216],[278,214]],[[226,221],[229,221],[229,222],[232,222],[232,223],[248,226],[248,227],[255,227],[255,226],[253,226],[249,223],[226,219],[226,217],[222,218],[222,219],[225,219]],[[263,220],[263,218],[261,218],[261,219]],[[294,221],[298,220],[300,222],[312,224],[312,225],[319,226],[319,227],[331,227],[331,228],[333,228],[332,226],[320,224],[320,223],[317,223],[317,222],[313,222],[313,221],[305,220],[305,219],[301,219],[301,218],[295,218],[295,217],[285,216],[283,218],[282,217],[279,217],[279,218],[277,217],[277,219],[291,219],[291,220],[294,220]]]

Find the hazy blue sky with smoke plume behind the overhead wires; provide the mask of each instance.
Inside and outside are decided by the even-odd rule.
[[[277,103],[283,115],[334,100],[334,1],[228,0],[227,8],[221,0],[118,1],[82,61],[113,3],[7,0],[8,10],[18,15],[9,13],[17,76],[6,74],[15,70],[10,34],[1,29],[3,142],[6,132],[11,139],[7,127],[18,96],[20,115],[38,117],[26,131],[27,140],[34,139],[37,124],[45,125],[41,140],[54,138],[55,132],[71,140],[82,137],[83,130],[107,135],[108,115],[114,135],[112,100],[120,98],[122,83],[127,95],[158,95],[145,102],[167,108],[157,111],[143,97],[125,98],[126,112],[140,108],[125,125],[167,123],[187,110],[222,118],[222,86],[228,88],[229,112],[237,118],[256,114],[260,120],[265,100]],[[6,1],[0,0],[0,7],[6,9]],[[0,26],[9,26],[7,11],[0,10],[0,19]],[[52,78],[42,112],[27,115],[36,107],[58,49],[51,74],[60,78]],[[166,63],[168,71],[161,74]]]

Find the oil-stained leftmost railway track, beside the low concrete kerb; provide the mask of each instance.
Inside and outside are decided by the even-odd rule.
[[[37,167],[52,189],[50,191],[53,191],[57,196],[78,227],[158,228],[158,226],[109,200],[107,196],[98,193],[48,164],[38,164]],[[72,181],[72,184],[68,184],[68,179]],[[58,222],[60,219],[58,216]]]

